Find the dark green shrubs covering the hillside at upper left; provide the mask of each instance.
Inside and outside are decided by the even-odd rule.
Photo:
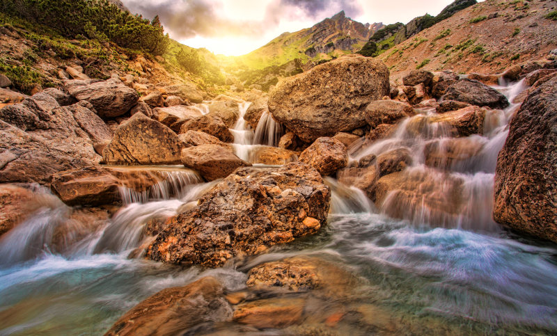
[[[153,55],[164,54],[170,40],[158,17],[143,19],[107,0],[3,0],[0,11],[49,26],[66,38],[81,35]]]

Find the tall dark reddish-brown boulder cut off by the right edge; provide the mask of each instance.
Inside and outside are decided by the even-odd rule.
[[[557,242],[557,78],[534,90],[510,121],[497,158],[496,222]]]

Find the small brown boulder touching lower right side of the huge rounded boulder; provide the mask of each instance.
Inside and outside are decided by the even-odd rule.
[[[412,106],[398,100],[375,100],[366,106],[366,122],[372,129],[380,124],[395,124],[411,115],[414,115]]]

